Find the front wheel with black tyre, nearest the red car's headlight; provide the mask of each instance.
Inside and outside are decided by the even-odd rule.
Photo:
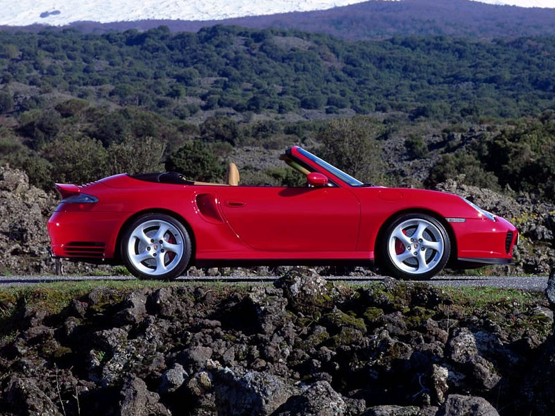
[[[382,259],[386,270],[400,279],[429,279],[447,263],[451,243],[445,227],[426,214],[405,214],[386,230]]]

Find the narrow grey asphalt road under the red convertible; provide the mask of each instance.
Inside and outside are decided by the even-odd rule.
[[[80,281],[80,280],[131,280],[134,277],[126,276],[0,276],[0,286],[7,285],[29,285],[46,283],[49,281]],[[230,277],[180,277],[178,281],[273,281],[276,276],[230,276]],[[382,276],[359,277],[359,276],[334,276],[327,277],[333,281],[350,281],[364,284],[371,281],[380,281]],[[436,286],[494,286],[498,288],[515,288],[527,291],[545,291],[547,288],[547,276],[440,276],[423,282]]]

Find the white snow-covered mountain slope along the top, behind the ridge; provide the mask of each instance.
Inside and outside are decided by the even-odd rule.
[[[391,0],[402,1],[402,0]],[[448,1],[448,0],[438,0]],[[522,7],[555,8],[555,0],[475,0]],[[62,26],[74,21],[220,20],[230,17],[325,10],[360,0],[1,0],[0,25]]]

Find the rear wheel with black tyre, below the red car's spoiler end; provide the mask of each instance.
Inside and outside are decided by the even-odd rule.
[[[121,258],[139,279],[175,279],[191,258],[191,239],[176,218],[145,214],[129,225],[121,239]]]

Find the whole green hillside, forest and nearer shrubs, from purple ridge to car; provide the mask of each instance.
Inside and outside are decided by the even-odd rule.
[[[164,167],[216,180],[230,155],[244,153],[234,149],[323,144],[324,155],[348,153],[334,141],[355,128],[374,149],[360,155],[375,155],[361,180],[432,186],[466,172],[468,184],[552,199],[554,71],[555,37],[4,32],[0,158],[49,191],[54,180]],[[357,113],[373,118],[329,124]],[[339,156],[350,171],[341,161],[352,159]],[[295,181],[254,157],[239,162],[243,183]]]

